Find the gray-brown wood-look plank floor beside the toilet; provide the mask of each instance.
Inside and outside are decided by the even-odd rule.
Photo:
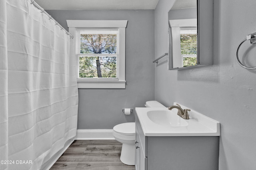
[[[50,170],[135,170],[120,161],[116,140],[74,140]]]

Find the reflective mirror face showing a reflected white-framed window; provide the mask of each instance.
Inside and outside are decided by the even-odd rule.
[[[168,12],[169,68],[198,64],[197,0],[176,0]]]

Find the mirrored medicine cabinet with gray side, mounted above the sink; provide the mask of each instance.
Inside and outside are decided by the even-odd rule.
[[[212,65],[212,0],[176,0],[168,22],[168,70]]]

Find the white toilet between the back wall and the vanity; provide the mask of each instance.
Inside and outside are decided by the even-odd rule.
[[[158,101],[147,101],[146,107],[165,107]],[[135,164],[135,122],[121,123],[113,128],[114,138],[122,143],[120,160],[126,165]]]

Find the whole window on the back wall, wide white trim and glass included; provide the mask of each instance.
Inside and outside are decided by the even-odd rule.
[[[127,20],[67,20],[78,88],[125,88]]]

